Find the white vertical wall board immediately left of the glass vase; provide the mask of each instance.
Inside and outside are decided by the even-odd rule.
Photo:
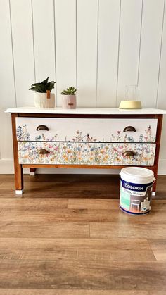
[[[99,0],[97,104],[116,103],[120,0]]]

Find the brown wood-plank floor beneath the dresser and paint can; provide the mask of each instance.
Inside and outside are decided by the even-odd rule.
[[[149,215],[119,210],[117,175],[0,175],[1,295],[165,295],[166,176]]]

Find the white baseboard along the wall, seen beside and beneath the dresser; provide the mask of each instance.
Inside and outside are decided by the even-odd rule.
[[[0,159],[0,174],[13,174],[13,159]],[[24,169],[24,174],[29,174],[28,168]],[[38,174],[118,174],[120,169],[77,169],[77,168],[40,168]],[[158,174],[166,175],[166,159],[160,159]]]

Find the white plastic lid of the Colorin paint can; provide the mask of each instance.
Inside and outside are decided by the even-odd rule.
[[[120,171],[120,177],[122,180],[132,183],[141,183],[146,184],[153,182],[154,172],[150,169],[142,168],[142,167],[126,167],[122,168]]]

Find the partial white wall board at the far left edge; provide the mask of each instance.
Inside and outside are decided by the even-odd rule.
[[[13,77],[13,59],[11,44],[11,24],[9,3],[0,0],[0,159],[12,158],[11,116],[4,113],[5,109],[15,106],[15,89]],[[0,163],[1,165],[1,163]]]

